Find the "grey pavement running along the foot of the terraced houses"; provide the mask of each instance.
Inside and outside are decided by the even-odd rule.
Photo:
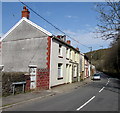
[[[21,94],[17,94],[17,95],[10,95],[7,97],[3,97],[2,98],[2,108],[0,108],[0,109],[4,109],[6,107],[10,107],[10,106],[17,105],[17,104],[22,104],[27,101],[32,101],[35,99],[46,98],[48,96],[53,96],[53,95],[56,95],[59,93],[66,93],[66,92],[74,90],[78,87],[81,87],[83,85],[86,85],[86,84],[90,83],[91,81],[92,80],[89,77],[89,78],[86,78],[84,81],[56,86],[49,90],[32,91],[32,92],[21,93]]]

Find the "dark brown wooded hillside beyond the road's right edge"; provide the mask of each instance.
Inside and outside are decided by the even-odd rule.
[[[85,53],[96,69],[120,79],[120,45]]]

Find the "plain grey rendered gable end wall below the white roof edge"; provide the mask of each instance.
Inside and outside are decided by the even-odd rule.
[[[29,65],[47,67],[48,36],[23,21],[2,42],[2,64],[7,72],[28,72]]]

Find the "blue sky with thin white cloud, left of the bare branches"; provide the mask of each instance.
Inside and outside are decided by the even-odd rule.
[[[26,2],[34,11],[78,40],[80,43],[93,50],[107,48],[110,40],[95,39],[93,31],[97,25],[97,13],[94,2]],[[20,2],[2,2],[2,33],[5,34],[21,19],[23,5]],[[48,23],[43,21],[32,11],[30,20],[43,27],[54,35],[62,34]],[[71,40],[74,47],[79,47],[81,52],[90,51],[89,48]]]

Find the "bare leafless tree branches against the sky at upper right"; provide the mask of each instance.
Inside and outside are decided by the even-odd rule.
[[[118,39],[120,32],[120,1],[108,1],[105,3],[96,4],[98,12],[98,36],[107,39]]]

